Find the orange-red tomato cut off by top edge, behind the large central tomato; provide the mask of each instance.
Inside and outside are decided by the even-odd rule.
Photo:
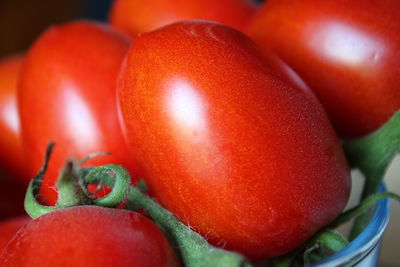
[[[110,23],[131,36],[187,19],[218,21],[245,30],[256,9],[253,0],[115,0]]]

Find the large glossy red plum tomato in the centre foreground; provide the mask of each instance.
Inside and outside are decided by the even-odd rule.
[[[189,21],[140,35],[118,83],[152,193],[211,243],[253,260],[299,246],[350,191],[319,102],[275,67],[240,32]]]

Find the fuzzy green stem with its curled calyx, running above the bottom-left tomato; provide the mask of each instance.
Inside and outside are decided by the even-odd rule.
[[[141,209],[150,216],[173,247],[179,248],[177,253],[181,256],[184,266],[252,266],[241,254],[214,247],[201,235],[185,226],[172,213],[144,193],[146,186],[143,181],[137,187],[131,186],[129,173],[120,165],[80,168],[77,163],[68,161],[57,182],[59,193],[57,204],[46,206],[39,203],[36,198],[39,195],[53,146],[53,144],[49,145],[45,163],[39,174],[31,181],[26,193],[25,209],[32,218],[71,206],[116,207],[126,202],[125,209],[132,211]],[[111,192],[104,197],[96,197],[88,192],[89,184],[110,187]]]

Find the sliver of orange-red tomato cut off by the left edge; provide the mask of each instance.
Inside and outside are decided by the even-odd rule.
[[[29,179],[23,160],[17,83],[23,55],[0,60],[0,167],[17,179]]]

